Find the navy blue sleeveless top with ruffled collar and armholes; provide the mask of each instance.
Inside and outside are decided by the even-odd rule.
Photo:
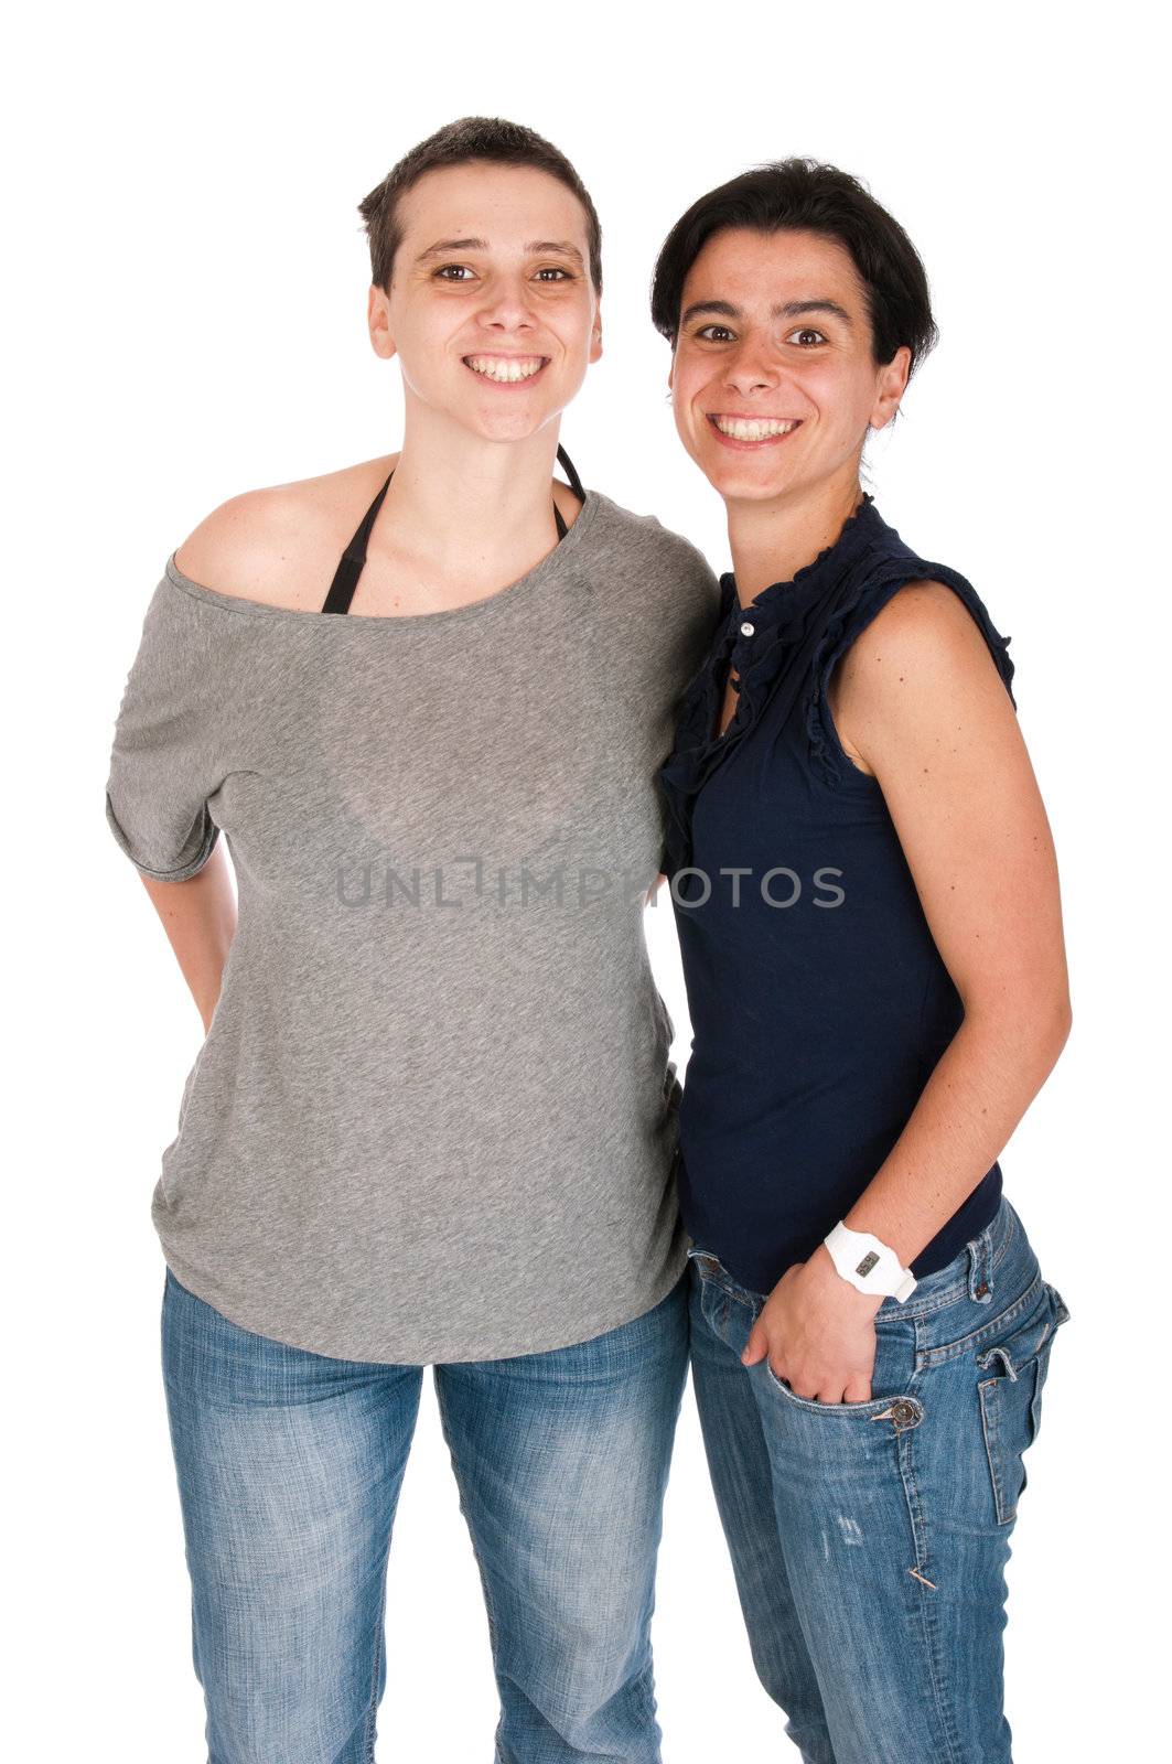
[[[918,557],[865,497],[833,545],[752,605],[722,577],[660,771],[694,1030],[680,1205],[694,1244],[757,1293],[849,1212],[964,1016],[883,790],[844,753],[826,700],[835,663],[911,580],[960,596],[1015,704],[1010,639],[973,586]],[[731,667],[736,714],[717,736]],[[994,1164],[913,1274],[951,1261],[999,1200]]]

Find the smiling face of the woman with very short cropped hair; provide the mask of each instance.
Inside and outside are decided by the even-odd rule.
[[[390,298],[371,342],[399,356],[408,423],[424,413],[492,441],[556,420],[602,355],[586,213],[533,166],[427,171],[399,201]]]

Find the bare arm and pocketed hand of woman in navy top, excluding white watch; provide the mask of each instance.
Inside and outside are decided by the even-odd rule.
[[[847,653],[837,697],[844,746],[879,780],[964,1004],[904,1132],[845,1214],[907,1265],[1001,1154],[1070,1034],[1057,863],[1010,697],[951,589],[902,589]],[[819,1245],[775,1288],[747,1364],[773,1342],[798,1395],[865,1401],[879,1304]]]

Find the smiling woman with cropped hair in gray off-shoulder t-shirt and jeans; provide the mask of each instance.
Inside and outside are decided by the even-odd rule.
[[[208,1752],[372,1759],[432,1364],[496,1755],[650,1760],[688,1279],[642,908],[717,584],[558,446],[602,349],[568,161],[462,118],[360,212],[402,450],[168,557],[106,792],[207,1028],[152,1215]]]

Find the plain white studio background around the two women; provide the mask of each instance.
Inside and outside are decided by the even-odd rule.
[[[1075,1002],[1003,1159],[1073,1312],[1013,1540],[1008,1713],[1018,1764],[1163,1743],[1168,307],[1144,11],[205,0],[58,5],[9,34],[11,1757],[205,1759],[148,1219],[199,1021],[102,787],[166,554],[235,492],[399,445],[355,205],[464,113],[537,127],[586,180],[605,355],[563,441],[717,568],[722,510],[646,310],[671,222],[801,152],[863,175],[927,261],[941,346],[872,487],[1013,637]],[[651,919],[683,1035],[671,917]],[[653,1635],[667,1764],[796,1757],[750,1665],[690,1390]],[[431,1381],[388,1660],[379,1757],[487,1760],[487,1628]]]

